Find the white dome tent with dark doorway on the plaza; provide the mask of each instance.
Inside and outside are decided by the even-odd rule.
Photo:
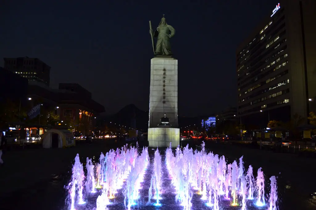
[[[74,134],[69,130],[48,130],[42,137],[43,148],[65,148],[75,146]]]

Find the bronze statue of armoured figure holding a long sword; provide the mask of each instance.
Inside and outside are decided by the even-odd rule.
[[[149,33],[151,35],[155,55],[172,55],[170,38],[174,36],[175,32],[174,28],[166,23],[165,14],[163,14],[159,26],[155,31],[152,30],[151,22],[149,21]],[[153,37],[157,37],[156,49],[154,48]]]

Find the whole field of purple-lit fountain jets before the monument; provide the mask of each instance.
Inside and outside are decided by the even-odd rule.
[[[201,148],[201,151],[193,151],[187,145],[183,149],[178,146],[173,150],[170,146],[165,151],[166,167],[162,165],[162,156],[156,149],[150,173],[145,176],[149,165],[148,148],[143,147],[138,151],[138,145],[125,145],[110,150],[105,156],[101,153],[100,161],[95,165],[87,158],[86,179],[83,164],[77,154],[72,178],[67,186],[67,210],[143,208],[151,205],[152,199],[155,199],[155,206],[166,205],[165,207],[172,208],[172,205],[179,205],[185,210],[191,210],[192,206],[197,208],[195,202],[199,203],[197,205],[203,203],[213,210],[229,209],[228,205],[241,210],[257,207],[278,209],[275,176],[270,178],[269,196],[264,196],[265,180],[261,168],[254,179],[252,166],[244,170],[243,156],[238,162],[234,160],[232,164],[227,164],[224,156],[206,152],[204,143]],[[164,177],[167,174],[170,180],[167,180],[168,176]],[[165,188],[168,181],[174,189],[168,186]],[[173,201],[168,200],[172,193],[175,198]],[[83,198],[83,195],[87,196]],[[162,197],[166,199],[162,200]],[[86,205],[79,205],[85,201]],[[203,209],[201,206],[198,208]]]

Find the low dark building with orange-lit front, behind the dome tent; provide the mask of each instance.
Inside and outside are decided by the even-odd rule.
[[[91,93],[79,84],[62,83],[59,87],[60,89],[52,89],[40,82],[29,82],[28,97],[32,98],[30,103],[36,105],[41,102],[51,107],[59,115],[60,121],[72,122],[74,129],[83,134],[94,131],[96,117],[100,112],[105,112],[104,106],[94,101]]]

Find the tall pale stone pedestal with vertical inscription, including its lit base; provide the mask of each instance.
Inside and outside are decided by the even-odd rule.
[[[170,127],[158,127],[160,119],[169,118]],[[179,145],[178,128],[178,60],[156,57],[150,62],[149,147],[173,148]]]

